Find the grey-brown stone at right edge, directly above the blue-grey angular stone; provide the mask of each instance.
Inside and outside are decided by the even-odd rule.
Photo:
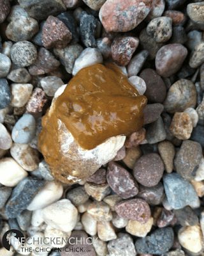
[[[203,157],[200,143],[196,141],[183,141],[180,150],[175,156],[175,170],[187,180],[193,179]]]

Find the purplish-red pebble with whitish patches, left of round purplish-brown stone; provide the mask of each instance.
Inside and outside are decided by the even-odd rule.
[[[132,175],[117,163],[110,162],[106,175],[110,188],[122,198],[130,198],[138,193],[138,184]]]

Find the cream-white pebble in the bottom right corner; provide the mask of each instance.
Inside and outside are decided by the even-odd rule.
[[[179,243],[190,253],[199,253],[203,248],[203,236],[200,225],[180,228]]]

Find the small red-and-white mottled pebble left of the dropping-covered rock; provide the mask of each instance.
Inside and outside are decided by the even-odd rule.
[[[46,94],[41,88],[35,88],[27,102],[26,110],[29,113],[40,113],[47,102]]]

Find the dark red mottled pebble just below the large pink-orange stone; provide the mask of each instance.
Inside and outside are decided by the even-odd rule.
[[[138,38],[133,36],[121,36],[115,38],[111,46],[113,61],[119,66],[128,65],[138,44]]]

